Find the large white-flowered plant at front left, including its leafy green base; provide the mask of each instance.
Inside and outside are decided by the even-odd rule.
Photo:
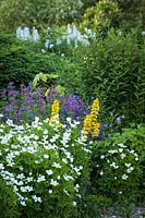
[[[21,218],[74,218],[80,213],[90,156],[78,123],[67,121],[68,128],[38,118],[32,124],[0,124],[0,178],[3,189],[17,196]]]

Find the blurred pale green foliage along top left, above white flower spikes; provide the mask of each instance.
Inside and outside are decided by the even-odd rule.
[[[0,24],[4,28],[65,24],[80,17],[81,0],[1,0]]]

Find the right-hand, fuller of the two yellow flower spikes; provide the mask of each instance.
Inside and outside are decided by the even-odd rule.
[[[99,111],[99,100],[96,98],[92,105],[90,114],[86,116],[84,119],[84,128],[83,133],[84,135],[92,135],[92,137],[97,137],[99,134],[99,123],[96,121]]]

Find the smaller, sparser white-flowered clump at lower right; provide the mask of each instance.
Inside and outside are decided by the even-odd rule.
[[[113,193],[114,197],[124,197],[128,193],[135,192],[140,184],[142,171],[140,170],[140,153],[128,143],[110,143],[110,138],[102,143],[97,156],[96,174],[98,183],[104,184],[106,194]],[[108,190],[108,186],[110,187]],[[132,189],[134,186],[134,190]],[[116,192],[116,193],[114,193]]]

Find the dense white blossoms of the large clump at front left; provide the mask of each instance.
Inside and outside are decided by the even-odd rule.
[[[16,125],[10,120],[0,124],[0,177],[13,187],[22,206],[28,201],[41,204],[46,189],[48,197],[59,189],[76,206],[89,149],[76,131],[78,123],[69,122],[67,129],[53,129],[48,119],[40,122],[38,118],[32,124]],[[38,191],[41,185],[45,189]]]

